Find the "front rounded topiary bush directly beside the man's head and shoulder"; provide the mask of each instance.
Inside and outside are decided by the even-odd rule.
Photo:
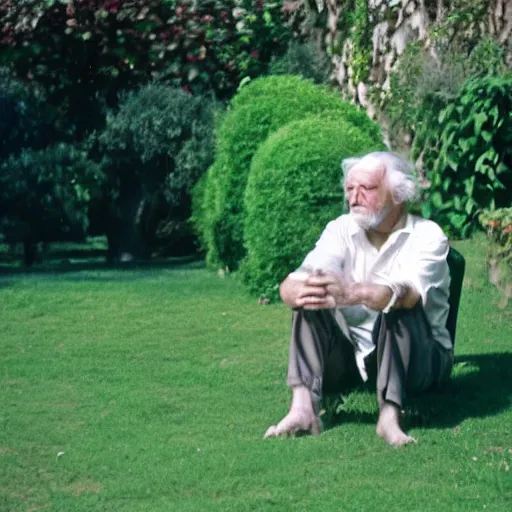
[[[323,116],[290,123],[260,146],[245,193],[241,274],[252,292],[276,299],[279,283],[341,214],[341,159],[382,149],[352,124]]]

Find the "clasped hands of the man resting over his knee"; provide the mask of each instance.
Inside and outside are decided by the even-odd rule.
[[[315,271],[298,290],[297,307],[332,309],[354,304],[354,285],[334,274]]]

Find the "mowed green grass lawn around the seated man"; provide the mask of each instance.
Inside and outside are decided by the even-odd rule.
[[[370,390],[318,438],[286,413],[289,311],[201,268],[0,281],[1,511],[512,510],[512,311],[467,258],[454,376],[375,435]]]

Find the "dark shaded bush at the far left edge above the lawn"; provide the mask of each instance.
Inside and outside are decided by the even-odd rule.
[[[102,174],[85,151],[65,144],[10,156],[0,166],[6,239],[33,244],[83,237],[88,202],[101,182]]]

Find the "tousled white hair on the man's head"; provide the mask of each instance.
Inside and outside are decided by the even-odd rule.
[[[395,204],[412,203],[418,198],[418,180],[414,174],[414,167],[407,160],[392,151],[374,151],[362,157],[345,158],[341,161],[343,177],[341,185],[344,186],[348,173],[354,165],[368,160],[375,165],[375,161],[384,165],[386,181]]]

